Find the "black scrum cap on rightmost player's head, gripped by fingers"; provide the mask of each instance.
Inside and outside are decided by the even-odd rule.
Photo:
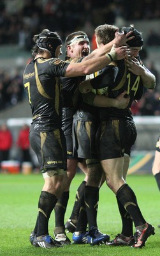
[[[129,31],[133,31],[130,36],[135,36],[135,38],[127,41],[127,44],[129,47],[141,47],[143,46],[143,38],[142,38],[142,33],[140,33],[138,30],[136,30],[133,26],[129,28],[122,28],[122,31],[124,31],[124,34],[126,35]]]

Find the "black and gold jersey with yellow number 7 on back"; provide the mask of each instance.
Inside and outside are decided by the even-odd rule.
[[[32,60],[24,70],[24,87],[31,106],[34,131],[61,127],[62,90],[60,78],[69,62],[56,58]]]

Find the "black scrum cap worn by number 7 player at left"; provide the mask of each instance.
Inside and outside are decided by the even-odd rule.
[[[61,37],[57,33],[51,31],[42,32],[36,41],[40,49],[47,49],[52,58],[55,57],[55,50],[62,44]]]

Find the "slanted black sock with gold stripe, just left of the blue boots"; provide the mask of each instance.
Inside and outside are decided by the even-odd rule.
[[[78,215],[80,212],[80,200],[82,196],[84,195],[84,188],[85,188],[86,181],[84,180],[79,188],[76,191],[76,198],[75,198],[75,204],[73,205],[73,210],[71,212],[71,216],[69,219],[71,220],[78,220]]]

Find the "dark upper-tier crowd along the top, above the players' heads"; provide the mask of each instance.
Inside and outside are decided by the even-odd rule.
[[[1,0],[0,4],[0,44],[18,44],[29,51],[32,36],[43,28],[58,31],[63,40],[78,29],[92,38],[97,24],[160,19],[158,0]],[[159,45],[160,35],[147,41]]]

